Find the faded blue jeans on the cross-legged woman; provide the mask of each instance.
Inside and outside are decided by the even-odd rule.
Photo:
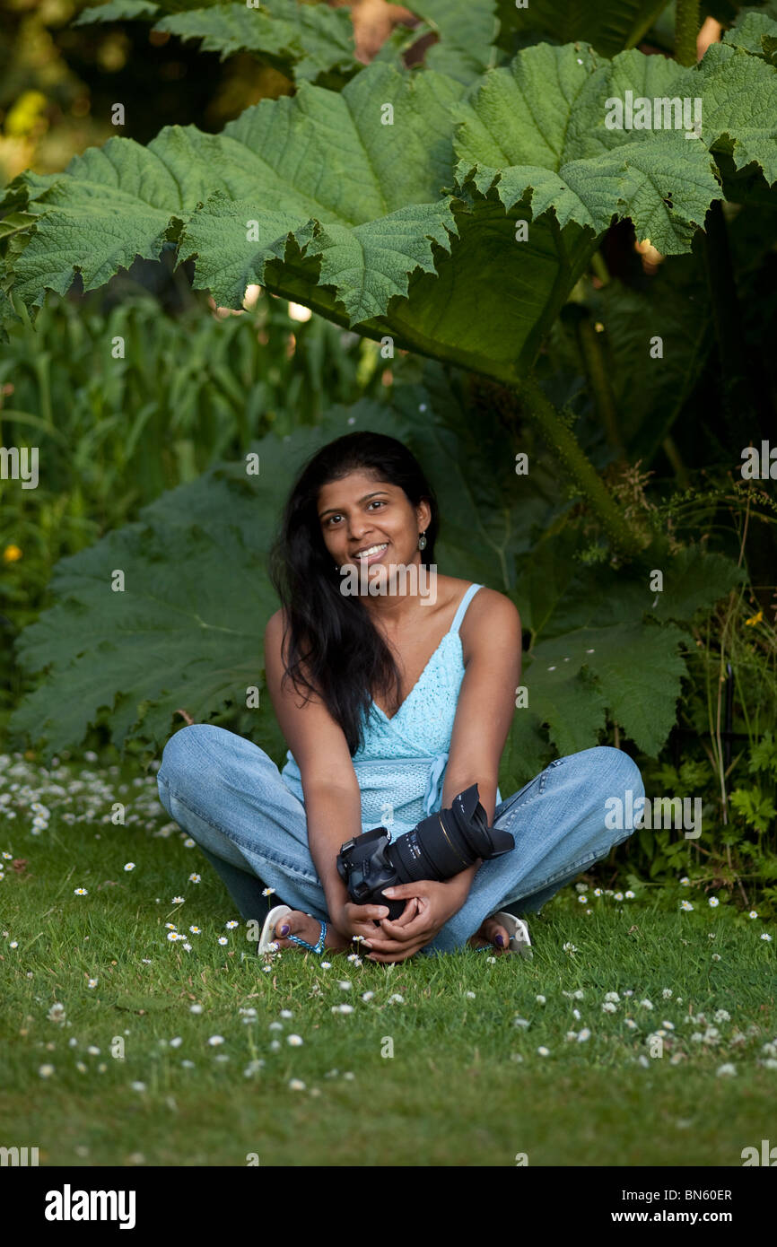
[[[266,918],[266,887],[276,889],[274,903],[329,920],[304,806],[257,744],[213,723],[192,723],[165,746],[157,783],[165,809],[197,842],[246,922]],[[634,804],[645,796],[636,763],[621,749],[597,746],[551,762],[496,807],[494,826],[514,835],[514,850],[483,863],[461,909],[422,951],[464,948],[500,909],[536,913],[631,835],[634,826],[624,819],[620,828],[605,826],[609,798],[632,808],[629,789]]]

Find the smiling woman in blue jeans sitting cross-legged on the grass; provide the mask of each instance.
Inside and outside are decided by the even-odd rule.
[[[208,723],[165,748],[162,804],[241,915],[264,922],[261,948],[274,936],[278,948],[338,953],[362,936],[375,961],[468,944],[526,951],[516,915],[631,834],[605,827],[609,798],[645,791],[621,749],[556,758],[501,799],[520,617],[503,594],[437,572],[437,532],[434,494],[400,441],[352,433],[323,446],[291,491],[272,556],[282,610],[267,625],[264,667],[286,766]],[[397,839],[474,783],[513,850],[390,889],[405,902],[394,922],[380,904],[352,903],[335,865],[345,840],[378,826]],[[284,903],[269,915],[268,888]]]

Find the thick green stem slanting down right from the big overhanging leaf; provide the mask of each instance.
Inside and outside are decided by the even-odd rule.
[[[626,524],[620,508],[599,479],[574,433],[545,397],[535,378],[524,377],[515,383],[515,389],[524,414],[538,426],[540,435],[557,456],[565,475],[582,495],[612,545],[621,554],[636,555],[642,549],[639,534]]]

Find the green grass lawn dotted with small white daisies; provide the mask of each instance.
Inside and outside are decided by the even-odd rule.
[[[41,1165],[741,1166],[777,1139],[775,944],[732,904],[569,887],[531,961],[264,969],[153,776],[20,754],[0,852],[0,1146]]]

